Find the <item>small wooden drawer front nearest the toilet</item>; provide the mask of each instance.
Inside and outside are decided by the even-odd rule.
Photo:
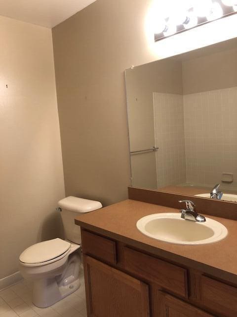
[[[110,264],[117,264],[116,242],[81,230],[82,251]]]

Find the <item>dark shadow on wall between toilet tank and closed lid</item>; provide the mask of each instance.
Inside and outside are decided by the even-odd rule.
[[[45,241],[54,238],[64,239],[64,230],[60,211],[50,213],[44,219],[41,230],[38,233],[38,241]]]

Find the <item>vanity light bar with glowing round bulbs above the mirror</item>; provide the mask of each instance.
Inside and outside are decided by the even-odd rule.
[[[154,23],[155,42],[236,13],[237,0],[171,0],[169,16]]]

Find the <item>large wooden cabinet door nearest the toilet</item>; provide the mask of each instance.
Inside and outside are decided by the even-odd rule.
[[[88,317],[150,317],[148,285],[84,257]]]

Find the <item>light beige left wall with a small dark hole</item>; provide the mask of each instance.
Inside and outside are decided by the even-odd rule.
[[[1,279],[60,234],[64,184],[51,30],[0,17],[0,39]]]

